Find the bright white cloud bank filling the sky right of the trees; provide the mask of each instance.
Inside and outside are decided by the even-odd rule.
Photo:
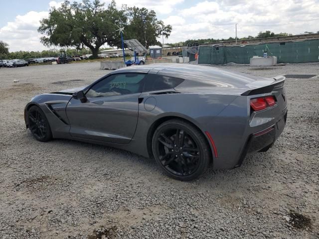
[[[292,34],[319,30],[318,20],[307,21],[319,18],[318,0],[260,0],[258,3],[251,0],[204,0],[180,9],[176,15],[183,16],[186,21],[183,26],[173,24],[166,43],[235,37],[236,23],[238,37],[256,36],[265,30]]]

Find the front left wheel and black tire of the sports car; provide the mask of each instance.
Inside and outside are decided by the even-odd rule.
[[[41,142],[52,139],[50,124],[43,111],[37,106],[31,106],[27,111],[28,128],[33,137]]]

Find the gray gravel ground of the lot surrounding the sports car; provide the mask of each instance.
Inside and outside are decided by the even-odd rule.
[[[260,76],[319,64],[219,66]],[[287,79],[287,125],[240,168],[179,182],[153,159],[25,129],[32,96],[87,85],[99,63],[0,69],[0,238],[319,238],[319,78]],[[13,83],[13,80],[19,80]]]

